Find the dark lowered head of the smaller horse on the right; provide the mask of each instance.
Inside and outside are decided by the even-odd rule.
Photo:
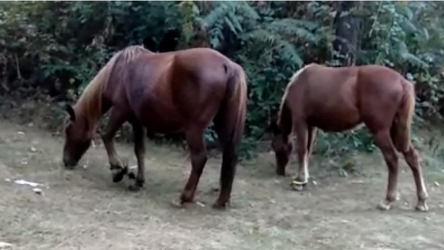
[[[293,151],[293,143],[289,139],[289,136],[284,136],[281,128],[276,122],[271,123],[271,129],[274,134],[271,141],[271,147],[273,148],[276,158],[276,173],[279,175],[285,175],[285,167],[290,161],[290,156]]]

